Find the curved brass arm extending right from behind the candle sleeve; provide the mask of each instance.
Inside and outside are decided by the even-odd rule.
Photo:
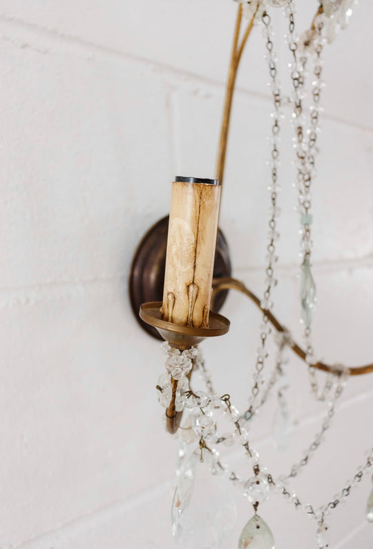
[[[286,331],[285,326],[283,326],[278,321],[278,319],[276,318],[276,316],[274,316],[274,314],[272,314],[270,311],[267,311],[266,309],[262,309],[262,307],[260,307],[260,299],[255,294],[253,294],[253,292],[250,291],[245,286],[245,284],[243,282],[240,282],[240,280],[236,280],[236,278],[225,277],[225,278],[216,278],[216,279],[214,279],[213,280],[213,294],[211,296],[211,301],[216,296],[216,294],[218,294],[222,290],[227,290],[227,289],[237,290],[237,291],[240,291],[241,294],[245,294],[245,296],[247,296],[252,301],[254,301],[254,303],[256,304],[258,309],[260,309],[263,313],[266,314],[269,322],[271,323],[272,326],[274,326],[274,328],[278,332],[285,332]],[[291,349],[298,355],[298,357],[300,357],[301,359],[303,359],[305,361],[306,353],[300,347],[300,345],[298,345],[298,343],[296,343],[295,341],[292,341]],[[315,364],[312,364],[312,366],[314,366],[315,368],[318,368],[318,370],[323,370],[324,372],[335,372],[336,371],[334,366],[325,364],[323,362],[316,362]],[[370,372],[373,372],[373,363],[366,364],[365,366],[348,367],[347,370],[348,370],[348,373],[350,375],[368,374]]]

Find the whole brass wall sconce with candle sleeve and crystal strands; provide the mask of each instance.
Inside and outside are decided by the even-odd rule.
[[[247,1],[238,0],[238,16],[233,35],[233,49],[229,78],[227,82],[226,100],[220,134],[218,152],[217,179],[198,179],[194,177],[176,177],[173,182],[171,210],[169,222],[162,219],[153,226],[140,243],[130,278],[130,295],[133,310],[137,316],[140,309],[140,319],[143,327],[153,336],[162,336],[166,341],[162,348],[166,354],[166,372],[161,375],[157,384],[160,403],[166,408],[166,427],[169,433],[175,433],[180,428],[182,414],[188,410],[189,417],[182,426],[184,442],[196,444],[191,455],[183,456],[179,470],[179,483],[175,489],[172,517],[173,534],[182,547],[186,536],[192,538],[193,547],[198,541],[193,538],[193,532],[188,531],[184,514],[188,512],[193,479],[199,462],[204,463],[212,474],[222,474],[233,484],[238,485],[249,503],[254,508],[254,516],[249,519],[242,530],[238,541],[238,549],[255,547],[273,549],[274,537],[265,521],[258,515],[258,507],[264,503],[271,492],[281,494],[291,501],[296,509],[301,509],[316,523],[316,543],[321,549],[326,548],[327,516],[344,501],[354,488],[359,485],[365,474],[373,467],[373,449],[367,453],[364,465],[355,471],[352,481],[341,488],[333,501],[321,507],[316,507],[303,501],[293,489],[291,480],[303,470],[309,458],[318,449],[323,434],[329,429],[330,422],[336,410],[336,403],[343,393],[343,387],[350,375],[362,375],[373,372],[373,364],[347,367],[327,364],[314,357],[312,347],[311,325],[316,303],[316,287],[312,276],[312,215],[311,183],[315,177],[315,143],[320,116],[319,98],[321,93],[321,54],[325,44],[325,29],[330,22],[341,21],[342,16],[349,16],[350,4],[335,0],[324,0],[317,8],[311,26],[298,38],[295,35],[294,6],[292,0]],[[348,4],[348,5],[347,5]],[[276,57],[274,55],[274,37],[270,28],[270,8],[284,7],[288,19],[289,34],[287,42],[292,60],[290,78],[293,87],[292,101],[294,110],[292,118],[295,129],[295,152],[297,167],[298,204],[300,207],[301,226],[301,274],[302,291],[300,305],[304,325],[304,345],[301,346],[280,323],[272,312],[271,288],[274,285],[274,269],[276,263],[276,217],[278,216],[278,132],[281,119],[281,93],[277,82]],[[348,12],[348,13],[347,13]],[[247,28],[240,39],[242,16],[248,15]],[[339,19],[338,19],[339,17]],[[269,218],[269,244],[267,247],[267,267],[265,293],[259,299],[242,282],[231,278],[231,263],[227,242],[221,231],[218,231],[218,214],[220,188],[224,176],[224,159],[227,150],[229,120],[233,99],[236,74],[242,51],[255,22],[259,22],[265,33],[267,62],[273,98],[273,113],[271,126],[271,186],[269,190],[271,213]],[[312,105],[309,108],[310,120],[305,123],[303,89],[305,86],[305,70],[312,64],[314,82],[312,83]],[[168,242],[166,234],[168,225]],[[217,242],[217,245],[216,245]],[[215,250],[216,247],[216,250]],[[215,258],[215,267],[213,262]],[[164,282],[163,282],[164,280]],[[261,311],[262,325],[260,327],[260,346],[256,353],[256,365],[251,388],[251,397],[247,410],[240,413],[233,406],[230,395],[217,395],[213,392],[212,381],[198,353],[197,346],[206,338],[226,334],[229,321],[218,311],[224,303],[228,290],[240,291],[245,294]],[[144,324],[145,323],[145,324]],[[277,357],[274,372],[267,378],[263,377],[267,350],[266,344],[271,327],[277,332]],[[262,464],[260,456],[251,445],[247,426],[265,402],[273,386],[283,379],[285,350],[291,349],[300,357],[309,369],[311,390],[318,400],[327,402],[327,411],[320,431],[307,447],[305,457],[297,462],[286,478],[274,476]],[[204,378],[206,390],[195,390],[191,374],[200,370]],[[325,386],[319,387],[316,370],[327,373]],[[280,395],[280,391],[279,391]],[[280,398],[280,397],[279,397]],[[220,461],[219,444],[227,442],[228,436],[218,431],[219,415],[224,416],[232,426],[231,442],[238,444],[247,456],[249,476],[242,478]],[[229,442],[229,441],[228,441]],[[228,513],[229,514],[229,513]],[[233,516],[233,514],[232,514]],[[367,502],[367,520],[373,522],[373,490]],[[211,548],[227,546],[226,533],[216,525],[216,541],[209,541]],[[194,540],[194,541],[193,541]],[[194,543],[194,545],[193,545]],[[215,543],[215,544],[214,544]],[[252,543],[252,545],[251,545]]]

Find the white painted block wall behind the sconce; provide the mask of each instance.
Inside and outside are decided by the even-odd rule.
[[[167,213],[173,176],[213,177],[235,12],[229,0],[0,3],[2,549],[173,547],[176,441],[154,389],[162,356],[133,319],[127,274],[140,237]],[[362,1],[327,48],[314,185],[316,350],[350,365],[373,359],[372,17]],[[271,107],[262,52],[256,32],[240,71],[221,219],[236,276],[259,293]],[[275,309],[299,336],[286,127],[283,137]],[[260,319],[238,296],[224,313],[231,332],[204,354],[218,390],[244,406]],[[254,431],[277,472],[299,457],[323,410],[296,359],[289,375],[289,454],[274,453],[273,409]],[[334,431],[296,483],[305,499],[329,501],[363,461],[372,396],[373,375],[351,379]],[[369,490],[365,478],[329,521],[334,549],[372,548]],[[237,501],[239,532],[250,509]],[[262,515],[278,548],[315,547],[313,525],[278,498]]]

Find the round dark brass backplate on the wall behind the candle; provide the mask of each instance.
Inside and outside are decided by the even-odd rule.
[[[169,232],[169,216],[163,217],[144,235],[133,257],[129,276],[129,295],[133,314],[137,322],[151,336],[162,339],[155,327],[146,324],[139,316],[140,305],[150,301],[162,301],[164,268],[166,266],[167,234]],[[231,276],[231,260],[225,237],[218,230],[213,278]],[[213,302],[212,309],[220,311],[227,291],[220,291]]]

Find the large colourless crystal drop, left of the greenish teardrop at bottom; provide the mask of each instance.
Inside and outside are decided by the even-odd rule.
[[[236,505],[229,481],[211,475],[207,465],[194,453],[175,489],[171,519],[178,549],[231,549]]]

